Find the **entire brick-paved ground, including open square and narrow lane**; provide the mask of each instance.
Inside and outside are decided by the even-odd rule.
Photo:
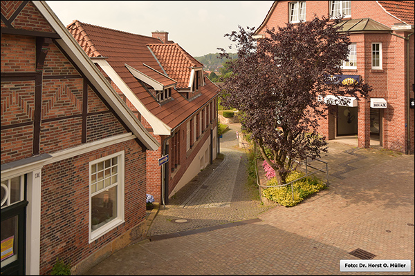
[[[270,208],[250,200],[246,155],[232,148],[231,127],[221,144],[225,159],[160,207],[149,239],[87,274],[414,275],[414,155],[330,141],[322,157],[329,189],[292,208]],[[341,273],[340,260],[358,259],[349,254],[357,248],[374,259],[410,259],[412,271]]]

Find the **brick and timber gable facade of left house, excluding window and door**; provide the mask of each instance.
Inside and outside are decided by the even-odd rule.
[[[48,156],[46,161],[40,159],[41,180],[28,188],[30,194],[40,189],[40,235],[39,258],[26,269],[48,275],[59,257],[71,263],[73,273],[83,273],[99,256],[144,238],[146,148],[138,141],[142,137],[134,139],[120,113],[61,50],[55,41],[58,34],[34,3],[1,1],[1,14],[2,186],[8,181],[3,172],[12,175],[10,170],[21,170],[29,178],[32,173],[21,166]],[[108,139],[112,142],[105,142]],[[123,187],[123,221],[91,241],[89,162],[118,152],[124,152],[120,174],[124,178],[118,179]],[[30,196],[28,206],[33,208],[36,202]],[[2,206],[2,214],[6,209]],[[3,232],[3,221],[1,227]],[[30,237],[36,232],[33,227],[28,222],[25,229]],[[28,239],[25,248],[33,247],[33,242]]]

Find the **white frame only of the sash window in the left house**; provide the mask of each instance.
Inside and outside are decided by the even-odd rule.
[[[91,166],[102,161],[118,157],[118,179],[117,184],[111,184],[108,188],[117,187],[117,217],[109,221],[107,224],[104,224],[100,228],[92,231],[91,229],[91,207],[92,207],[92,197],[93,195],[98,195],[98,193],[91,193]],[[125,152],[124,150],[116,152],[113,155],[108,155],[100,159],[93,160],[89,162],[89,243],[95,241],[102,235],[105,235],[113,228],[116,228],[120,224],[124,223],[124,167],[125,167]],[[101,192],[102,193],[102,192]]]

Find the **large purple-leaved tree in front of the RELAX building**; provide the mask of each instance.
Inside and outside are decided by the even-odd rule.
[[[233,73],[223,79],[221,105],[239,110],[243,130],[251,133],[279,184],[297,168],[295,161],[327,152],[326,140],[317,132],[318,119],[334,109],[319,99],[367,97],[371,90],[362,80],[342,86],[333,77],[342,75],[351,44],[348,34],[335,27],[338,22],[315,17],[288,23],[267,29],[266,38],[258,42],[252,38],[254,28],[239,26],[238,32],[225,34],[234,42],[238,58],[227,63]]]

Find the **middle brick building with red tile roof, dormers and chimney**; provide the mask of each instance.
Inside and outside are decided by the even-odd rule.
[[[166,203],[216,158],[219,88],[168,32],[147,37],[77,20],[67,28],[161,144],[147,152],[147,193]]]

